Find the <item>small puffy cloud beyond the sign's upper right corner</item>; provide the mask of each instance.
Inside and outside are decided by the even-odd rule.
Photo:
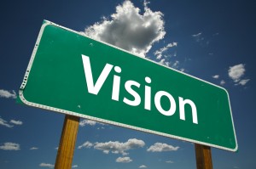
[[[245,71],[245,65],[243,64],[230,66],[229,76],[234,82],[236,82],[236,85],[244,86],[250,81],[250,79],[241,79],[241,77],[244,76]]]

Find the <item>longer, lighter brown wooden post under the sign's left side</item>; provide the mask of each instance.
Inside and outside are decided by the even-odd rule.
[[[55,161],[55,169],[71,169],[73,150],[79,131],[79,117],[66,115],[61,132],[61,141]]]

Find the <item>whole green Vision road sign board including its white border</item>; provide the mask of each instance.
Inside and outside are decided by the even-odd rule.
[[[237,150],[224,88],[49,21],[19,96],[46,110]]]

